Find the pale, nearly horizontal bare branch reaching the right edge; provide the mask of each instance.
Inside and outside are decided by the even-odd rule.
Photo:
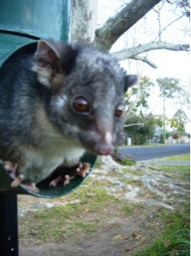
[[[149,42],[137,47],[114,52],[112,55],[118,60],[126,60],[129,58],[134,58],[136,55],[139,55],[143,52],[152,50],[189,51],[189,44],[181,45],[163,41]]]

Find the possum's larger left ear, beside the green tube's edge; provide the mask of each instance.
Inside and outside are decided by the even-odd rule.
[[[50,89],[59,90],[64,76],[75,64],[76,51],[72,46],[52,39],[40,40],[34,60],[33,71],[37,73],[38,81]]]

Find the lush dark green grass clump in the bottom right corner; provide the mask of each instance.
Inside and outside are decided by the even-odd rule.
[[[188,206],[188,205],[187,205]],[[137,256],[189,256],[189,207],[182,213],[163,210],[164,232]]]

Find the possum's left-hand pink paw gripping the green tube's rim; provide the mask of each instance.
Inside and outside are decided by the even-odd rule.
[[[24,175],[18,174],[19,165],[17,163],[12,163],[11,161],[4,161],[4,168],[9,172],[13,180],[11,183],[12,188],[17,188],[19,185],[32,192],[38,192],[39,189],[36,187],[35,183],[24,183]]]

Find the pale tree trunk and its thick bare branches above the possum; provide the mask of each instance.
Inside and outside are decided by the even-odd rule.
[[[129,29],[137,24],[145,14],[162,0],[132,0],[124,3],[124,7],[111,16],[101,28],[97,28],[98,1],[73,0],[72,2],[72,42],[91,42],[102,51],[110,51],[111,46]],[[165,1],[166,2],[166,1]],[[118,60],[132,58],[145,61],[139,56],[146,51],[167,49],[171,51],[189,51],[189,44],[173,44],[153,41],[139,44],[113,53]],[[143,60],[144,59],[144,60]]]

